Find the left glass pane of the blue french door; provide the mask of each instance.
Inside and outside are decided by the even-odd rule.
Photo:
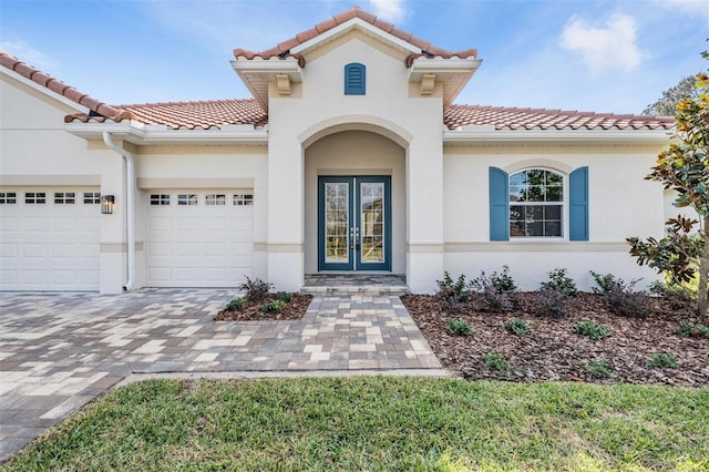
[[[349,185],[325,184],[325,261],[349,261]]]

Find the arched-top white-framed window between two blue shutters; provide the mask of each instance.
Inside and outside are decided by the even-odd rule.
[[[510,176],[510,236],[561,237],[564,177],[531,170]]]

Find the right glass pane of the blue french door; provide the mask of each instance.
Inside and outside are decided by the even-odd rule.
[[[360,184],[360,261],[384,261],[384,184]]]

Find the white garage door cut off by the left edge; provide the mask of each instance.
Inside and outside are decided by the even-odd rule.
[[[0,289],[99,290],[97,188],[0,188]]]

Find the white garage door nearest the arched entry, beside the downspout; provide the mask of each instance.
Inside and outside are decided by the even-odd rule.
[[[253,194],[161,191],[146,197],[148,286],[236,287],[251,276]]]

